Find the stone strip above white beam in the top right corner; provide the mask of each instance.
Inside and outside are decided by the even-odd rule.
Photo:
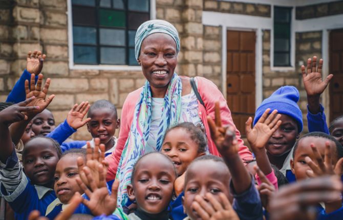
[[[295,18],[298,20],[343,14],[343,1],[324,4],[307,5],[295,8]]]

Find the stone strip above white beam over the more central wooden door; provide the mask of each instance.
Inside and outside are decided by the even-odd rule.
[[[235,1],[205,0],[204,11],[270,17],[270,5],[240,3]]]

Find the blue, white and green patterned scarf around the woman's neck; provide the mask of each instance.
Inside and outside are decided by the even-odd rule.
[[[182,83],[174,73],[164,96],[161,123],[157,136],[156,150],[160,151],[165,131],[178,124],[181,112]],[[140,99],[135,107],[134,119],[130,133],[121,154],[116,178],[120,180],[118,189],[118,205],[127,202],[127,184],[131,183],[133,167],[138,158],[145,153],[145,144],[149,136],[152,118],[152,93],[150,84],[145,82]]]

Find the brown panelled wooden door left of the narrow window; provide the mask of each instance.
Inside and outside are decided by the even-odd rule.
[[[227,105],[245,135],[245,121],[255,113],[255,32],[227,31]]]

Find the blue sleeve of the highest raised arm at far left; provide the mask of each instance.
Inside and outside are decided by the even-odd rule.
[[[37,79],[38,76],[35,76],[35,82],[37,82]],[[24,70],[22,76],[20,76],[19,80],[15,83],[10,94],[7,96],[6,102],[19,103],[25,101],[25,80],[28,80],[30,84],[31,74],[26,69]]]

